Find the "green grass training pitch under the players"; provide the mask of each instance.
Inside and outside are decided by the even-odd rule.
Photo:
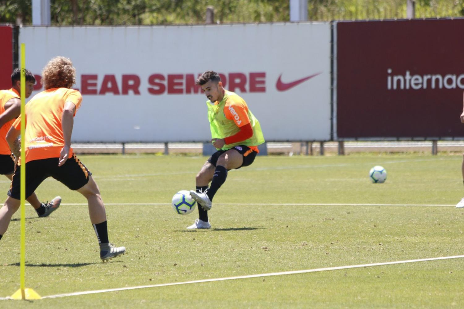
[[[198,231],[186,230],[197,211],[178,215],[170,201],[194,189],[206,157],[79,158],[107,204],[110,241],[127,253],[101,263],[84,197],[49,178],[36,192],[42,200],[61,195],[62,206],[41,219],[26,206],[26,287],[41,296],[464,254],[464,209],[454,207],[464,196],[460,155],[258,157],[229,172],[209,213],[212,229]],[[387,169],[386,183],[370,182],[374,165]],[[8,186],[0,182],[5,193]],[[295,205],[302,203],[316,205]],[[19,212],[0,252],[5,297],[19,288]],[[459,258],[1,300],[0,307],[463,308],[463,282]]]

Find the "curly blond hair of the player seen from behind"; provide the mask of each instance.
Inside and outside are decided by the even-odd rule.
[[[71,88],[76,83],[76,68],[70,58],[54,57],[42,70],[42,84],[45,90],[51,88]]]

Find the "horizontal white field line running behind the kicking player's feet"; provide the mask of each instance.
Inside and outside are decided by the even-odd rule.
[[[87,206],[87,203],[61,203],[61,205],[79,205]],[[115,205],[133,205],[133,206],[156,206],[156,205],[171,205],[170,203],[105,203],[106,206]],[[237,205],[237,206],[440,206],[449,207],[456,206],[454,204],[351,204],[351,203],[214,203],[214,205]]]

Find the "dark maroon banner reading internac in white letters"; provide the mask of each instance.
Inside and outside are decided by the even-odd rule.
[[[339,22],[338,138],[464,137],[464,19]]]

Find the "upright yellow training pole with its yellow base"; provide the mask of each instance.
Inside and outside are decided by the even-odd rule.
[[[12,299],[41,299],[32,289],[25,288],[26,273],[26,150],[25,150],[25,105],[26,105],[26,45],[21,43],[21,174],[20,174],[20,198],[21,198],[21,258],[20,269],[20,288],[12,296]]]

